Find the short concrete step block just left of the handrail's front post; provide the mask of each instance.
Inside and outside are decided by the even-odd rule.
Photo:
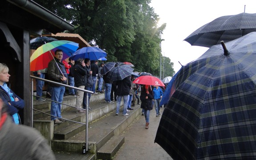
[[[67,140],[70,137],[73,137],[74,135],[76,135],[77,133],[79,133],[85,129],[86,129],[85,125],[76,123],[73,125],[69,125],[65,129],[54,132],[53,138],[55,140]]]

